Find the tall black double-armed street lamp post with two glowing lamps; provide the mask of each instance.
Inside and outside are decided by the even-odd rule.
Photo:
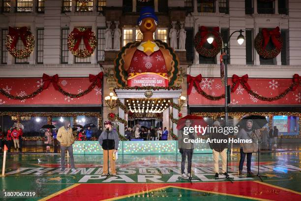
[[[220,36],[221,40],[222,40],[222,43],[223,43],[223,46],[222,46],[222,50],[223,52],[225,53],[225,55],[223,55],[223,61],[224,61],[224,64],[225,64],[225,126],[228,125],[228,61],[230,59],[230,55],[229,55],[229,47],[230,47],[230,38],[231,36],[234,34],[234,33],[237,33],[239,32],[240,35],[237,37],[237,42],[241,45],[244,41],[244,36],[241,34],[243,33],[244,31],[242,30],[239,30],[239,31],[235,31],[233,33],[231,33],[231,35],[229,36],[229,39],[228,39],[228,42],[227,43],[224,43],[222,37],[221,37],[221,34],[219,32],[216,32],[216,31],[213,31],[215,33],[218,33],[218,35]],[[209,44],[211,44],[214,40],[214,35],[211,33],[208,35],[207,37],[207,41]]]

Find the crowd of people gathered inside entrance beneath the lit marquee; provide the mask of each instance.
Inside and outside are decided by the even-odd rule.
[[[133,128],[125,127],[124,136],[128,140],[167,140],[168,130],[166,127],[164,127],[162,131],[161,127],[147,128],[144,126],[135,125]]]

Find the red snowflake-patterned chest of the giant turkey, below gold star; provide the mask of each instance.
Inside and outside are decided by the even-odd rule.
[[[141,50],[136,50],[127,73],[165,72],[167,73],[165,60],[161,50],[153,52],[150,56]]]

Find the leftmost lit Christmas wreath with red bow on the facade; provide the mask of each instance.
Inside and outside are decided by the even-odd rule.
[[[19,38],[24,44],[24,49],[21,50],[17,50],[16,48]],[[9,27],[5,41],[8,52],[18,59],[29,57],[34,48],[34,37],[27,27],[21,27],[20,29]]]

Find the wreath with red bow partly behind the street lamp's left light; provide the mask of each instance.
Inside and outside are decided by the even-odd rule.
[[[218,27],[214,27],[212,29],[212,32],[209,32],[207,27],[204,26],[199,28],[199,32],[194,36],[194,47],[200,55],[204,57],[215,57],[219,53],[219,51],[223,47],[223,42],[218,32]],[[209,33],[213,34],[214,36],[212,48],[204,47]]]

